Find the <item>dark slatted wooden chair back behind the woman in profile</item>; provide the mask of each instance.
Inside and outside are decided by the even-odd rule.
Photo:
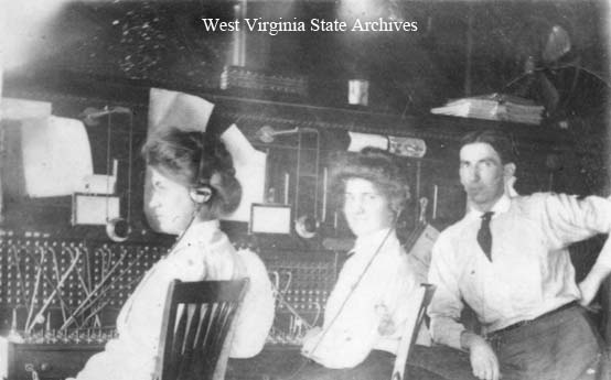
[[[223,380],[248,280],[175,280],[163,312],[158,380]]]

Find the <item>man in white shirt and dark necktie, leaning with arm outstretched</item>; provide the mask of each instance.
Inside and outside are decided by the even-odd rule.
[[[496,131],[468,134],[460,180],[469,211],[437,240],[429,282],[433,340],[468,350],[480,379],[605,378],[598,333],[585,310],[611,272],[608,241],[579,284],[568,246],[611,230],[611,203],[542,193],[508,197],[516,166],[511,141]],[[458,322],[464,304],[483,334]]]

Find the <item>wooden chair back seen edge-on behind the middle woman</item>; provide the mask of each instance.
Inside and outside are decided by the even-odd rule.
[[[393,368],[393,377],[390,380],[405,380],[405,366],[411,347],[416,344],[416,338],[420,332],[422,321],[427,306],[429,305],[432,294],[435,293],[435,285],[420,284],[414,298],[410,302],[418,304],[418,308],[414,308],[414,313],[407,317],[405,325],[403,326],[401,339],[399,340],[399,348],[397,350],[397,358],[395,359],[395,366]]]

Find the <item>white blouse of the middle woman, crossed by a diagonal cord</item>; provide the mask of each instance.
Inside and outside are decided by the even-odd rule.
[[[333,287],[322,330],[306,337],[302,352],[328,368],[353,368],[373,349],[397,352],[401,327],[419,304],[412,302],[424,282],[394,230],[356,240]],[[426,326],[418,344],[429,345]]]

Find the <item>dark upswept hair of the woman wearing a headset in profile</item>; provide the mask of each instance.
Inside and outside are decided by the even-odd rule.
[[[149,138],[142,156],[147,165],[189,188],[208,185],[213,189],[207,202],[211,217],[233,213],[239,205],[242,185],[232,155],[217,135],[163,129]]]

